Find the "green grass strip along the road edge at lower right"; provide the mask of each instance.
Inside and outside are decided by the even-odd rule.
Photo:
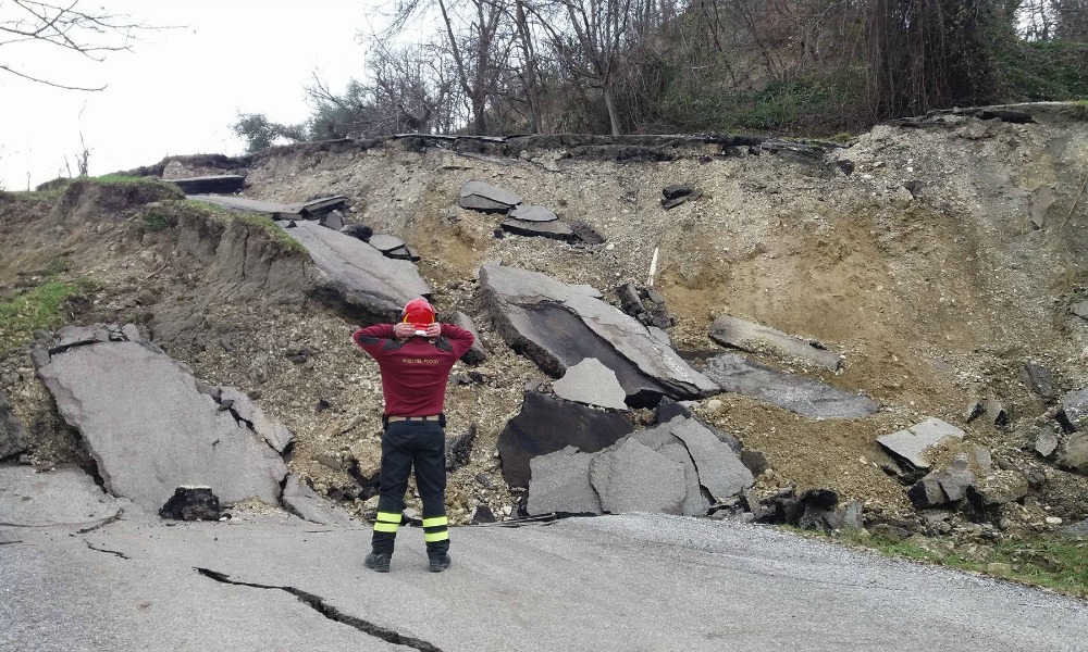
[[[1088,541],[1031,539],[1000,541],[966,556],[922,547],[910,539],[842,532],[833,540],[881,554],[959,570],[981,573],[1024,585],[1088,598]]]

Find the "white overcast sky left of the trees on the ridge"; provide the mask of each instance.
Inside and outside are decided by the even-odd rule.
[[[8,4],[4,7],[4,4]],[[333,89],[359,76],[366,46],[356,34],[380,29],[381,0],[83,0],[81,7],[128,13],[140,23],[180,26],[141,33],[132,52],[102,63],[57,47],[0,48],[0,64],[51,82],[101,86],[60,90],[0,71],[0,186],[55,178],[83,134],[90,174],[160,161],[170,154],[242,153],[230,129],[238,112],[279,122],[309,114],[302,87],[318,71]],[[12,11],[0,2],[0,16]]]

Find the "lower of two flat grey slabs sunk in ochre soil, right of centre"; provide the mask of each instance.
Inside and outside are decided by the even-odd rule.
[[[862,418],[878,410],[868,397],[784,374],[738,353],[722,353],[707,360],[703,373],[725,391],[759,399],[809,418]]]

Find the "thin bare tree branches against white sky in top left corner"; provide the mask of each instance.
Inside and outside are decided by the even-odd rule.
[[[127,51],[135,35],[146,25],[127,14],[104,8],[84,10],[82,0],[53,4],[37,0],[0,0],[0,54],[17,52],[18,46],[41,43],[67,50],[91,61],[103,61],[111,52]],[[13,55],[9,55],[13,57]],[[38,84],[66,90],[103,90],[46,79],[0,59],[0,71]]]

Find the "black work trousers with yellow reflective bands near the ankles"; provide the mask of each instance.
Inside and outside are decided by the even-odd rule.
[[[408,489],[416,468],[416,487],[423,500],[423,539],[428,554],[449,550],[446,521],[446,435],[440,422],[397,421],[382,434],[382,472],[378,485],[374,552],[393,553]]]

